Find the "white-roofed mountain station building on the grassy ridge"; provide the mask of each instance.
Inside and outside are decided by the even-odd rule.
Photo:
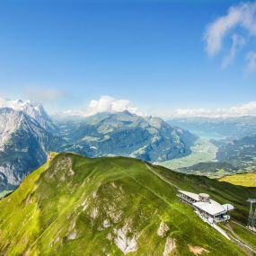
[[[208,222],[217,223],[228,221],[230,216],[228,212],[234,209],[230,204],[221,205],[215,200],[210,199],[208,194],[200,193],[195,194],[189,191],[178,190],[178,198],[194,207],[196,213],[207,219]]]

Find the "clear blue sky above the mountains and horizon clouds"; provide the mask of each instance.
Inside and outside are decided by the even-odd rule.
[[[238,4],[1,1],[0,95],[49,110],[86,108],[110,95],[154,115],[255,102],[253,32],[234,23],[213,54],[205,38],[209,24]]]

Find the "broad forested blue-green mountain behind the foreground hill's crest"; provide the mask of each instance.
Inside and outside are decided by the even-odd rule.
[[[162,162],[190,154],[196,139],[163,119],[142,118],[128,111],[58,120],[57,125],[62,137],[76,146],[72,151],[93,157],[124,155]]]

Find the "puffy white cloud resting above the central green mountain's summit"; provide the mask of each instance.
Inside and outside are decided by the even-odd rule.
[[[142,116],[143,112],[133,106],[128,100],[117,100],[110,96],[101,96],[99,100],[93,100],[89,102],[89,106],[86,110],[79,111],[66,111],[69,115],[80,115],[84,117],[93,116],[101,112],[121,112],[128,110],[131,113]]]

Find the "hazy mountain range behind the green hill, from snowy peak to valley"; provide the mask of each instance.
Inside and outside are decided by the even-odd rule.
[[[195,138],[163,119],[128,111],[53,121],[39,103],[0,100],[0,190],[15,188],[49,151],[154,162],[190,154]]]

